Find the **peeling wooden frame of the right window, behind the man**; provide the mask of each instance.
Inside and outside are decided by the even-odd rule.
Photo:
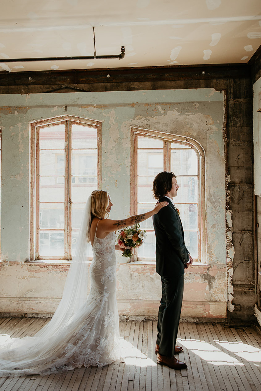
[[[193,138],[158,132],[139,127],[131,127],[131,215],[138,213],[138,177],[137,177],[137,136],[154,138],[164,143],[164,170],[171,169],[171,143],[188,145],[197,154],[198,158],[198,258],[194,262],[206,263],[206,205],[205,205],[205,151]],[[156,202],[156,201],[155,201]],[[134,261],[151,262],[154,258],[141,258],[134,251]]]

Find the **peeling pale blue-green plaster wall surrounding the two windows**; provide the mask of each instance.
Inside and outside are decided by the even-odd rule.
[[[58,115],[102,121],[102,188],[112,218],[130,215],[130,127],[188,136],[205,151],[205,260],[185,273],[182,316],[225,318],[227,253],[225,222],[224,98],[214,88],[1,95],[2,232],[0,312],[49,314],[61,297],[68,265],[27,263],[29,258],[29,122]],[[157,315],[161,296],[155,265],[126,264],[117,254],[120,314]]]

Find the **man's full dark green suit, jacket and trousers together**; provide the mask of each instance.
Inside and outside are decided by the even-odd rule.
[[[161,276],[162,298],[158,309],[157,344],[159,353],[173,357],[184,289],[184,265],[189,262],[189,252],[184,242],[182,222],[174,205],[169,205],[153,215],[156,235],[156,272]]]

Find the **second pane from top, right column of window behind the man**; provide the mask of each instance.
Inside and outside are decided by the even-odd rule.
[[[194,149],[171,150],[171,171],[176,175],[197,175],[198,159]]]

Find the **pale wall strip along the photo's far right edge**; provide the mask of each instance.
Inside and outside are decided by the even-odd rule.
[[[257,195],[257,306],[256,316],[261,325],[261,77],[253,86],[253,136],[254,136],[254,192]]]

